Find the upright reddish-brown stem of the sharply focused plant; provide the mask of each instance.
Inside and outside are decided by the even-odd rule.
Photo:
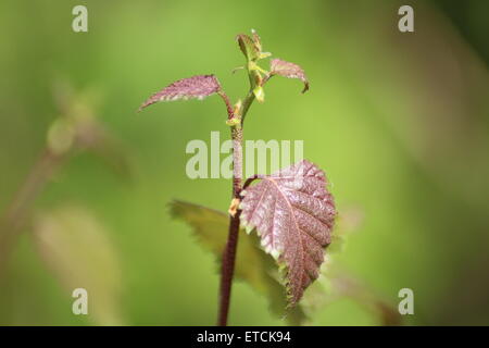
[[[247,114],[251,103],[254,100],[253,89],[246,97],[240,110],[237,114],[229,113],[229,119],[239,121],[231,126],[233,139],[233,198],[239,199],[242,189],[242,120]],[[228,108],[229,109],[229,108]],[[241,210],[238,209],[234,215],[229,216],[229,232],[227,236],[226,248],[223,254],[223,263],[221,271],[221,288],[220,288],[220,308],[217,325],[226,326],[229,313],[230,293],[233,286],[233,277],[235,273],[236,250],[238,247],[239,236],[239,217]]]

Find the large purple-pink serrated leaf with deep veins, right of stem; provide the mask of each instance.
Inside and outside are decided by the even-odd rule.
[[[322,170],[303,160],[247,188],[240,208],[247,231],[256,229],[265,251],[284,271],[289,304],[319,275],[336,209]]]

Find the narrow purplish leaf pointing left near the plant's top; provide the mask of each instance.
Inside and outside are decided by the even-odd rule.
[[[221,90],[221,84],[214,75],[197,75],[174,82],[142,103],[139,111],[158,102],[178,99],[203,99]]]

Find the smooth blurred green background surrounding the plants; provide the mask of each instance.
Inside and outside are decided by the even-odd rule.
[[[76,4],[88,8],[88,33],[72,30]],[[414,8],[415,33],[398,30],[402,4]],[[488,13],[489,2],[477,0],[1,1],[1,214],[60,116],[59,80],[95,90],[93,113],[120,140],[131,175],[118,175],[92,151],[54,173],[11,247],[0,324],[215,323],[215,259],[166,204],[180,198],[227,209],[229,181],[185,174],[189,140],[209,141],[211,130],[227,138],[225,109],[211,97],[135,111],[152,92],[196,74],[214,73],[234,100],[243,96],[244,73],[230,74],[243,63],[234,38],[251,28],[264,51],[305,70],[311,90],[272,80],[244,136],[304,140],[304,157],[333,183],[340,215],[363,216],[338,262],[394,306],[398,291],[412,288],[415,314],[404,324],[489,324]],[[66,209],[77,213],[64,226],[100,224],[103,238],[82,232],[71,241],[76,252],[63,258],[66,248],[51,245],[59,253],[47,256],[55,235],[50,214]],[[48,226],[48,247],[33,238],[39,225]],[[100,315],[72,313],[66,284],[84,287],[84,279],[99,286],[92,296]],[[230,324],[284,322],[268,313],[265,298],[235,283]],[[312,324],[378,320],[342,298]]]

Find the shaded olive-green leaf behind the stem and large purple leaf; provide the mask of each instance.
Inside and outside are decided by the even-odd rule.
[[[172,216],[188,223],[200,244],[221,261],[227,239],[228,215],[179,200],[172,201],[170,209]],[[287,306],[286,294],[279,282],[276,262],[261,250],[260,238],[256,235],[247,236],[242,228],[239,232],[235,276],[265,296],[275,315],[284,316]],[[305,319],[303,308],[300,306],[287,312],[287,321],[291,325],[300,325]]]

